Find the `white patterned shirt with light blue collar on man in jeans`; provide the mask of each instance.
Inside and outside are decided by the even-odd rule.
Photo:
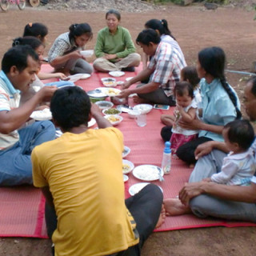
[[[16,90],[11,84],[6,74],[0,72],[0,111],[10,111],[17,108],[20,100],[20,91]],[[0,122],[2,122],[0,120]],[[0,150],[13,146],[18,142],[18,130],[12,131],[10,134],[0,134]]]

